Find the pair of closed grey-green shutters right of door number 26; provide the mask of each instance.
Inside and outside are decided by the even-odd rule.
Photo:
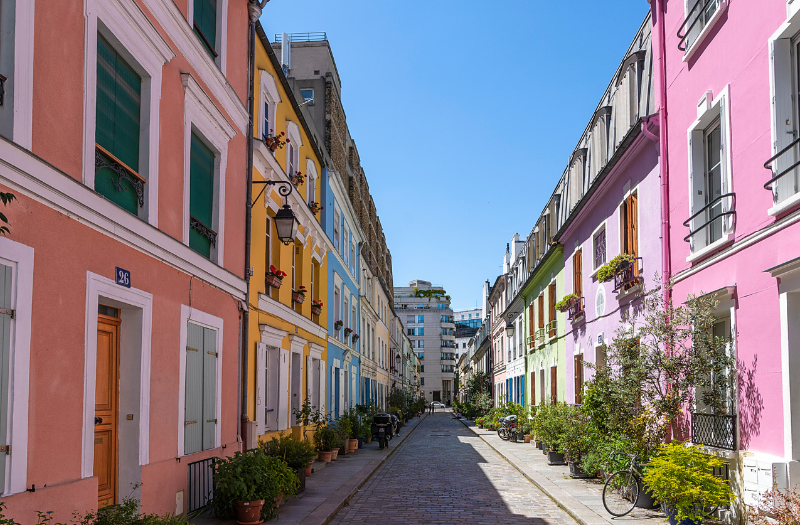
[[[186,333],[186,397],[183,453],[216,447],[217,333],[188,323]]]

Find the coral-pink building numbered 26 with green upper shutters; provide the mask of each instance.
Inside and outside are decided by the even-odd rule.
[[[247,3],[3,10],[7,515],[191,510],[240,448]]]

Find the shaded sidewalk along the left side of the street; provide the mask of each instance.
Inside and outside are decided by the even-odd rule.
[[[424,419],[426,416],[423,415]],[[372,441],[353,454],[342,456],[330,463],[314,461],[313,474],[306,478],[306,490],[285,502],[278,509],[281,525],[324,525],[358,492],[373,472],[391,456],[413,432],[420,418],[414,418],[400,429],[389,447],[378,448]],[[192,525],[236,525],[236,520],[219,520],[205,512],[191,520]]]

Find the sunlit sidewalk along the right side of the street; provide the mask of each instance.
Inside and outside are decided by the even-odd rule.
[[[665,519],[660,511],[639,508],[615,518],[603,507],[603,483],[599,479],[572,479],[569,467],[548,465],[547,456],[535,444],[503,441],[497,432],[479,429],[474,421],[461,422],[581,525],[656,525]]]

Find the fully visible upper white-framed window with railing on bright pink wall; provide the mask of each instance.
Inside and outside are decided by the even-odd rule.
[[[728,157],[729,122],[727,88],[713,102],[705,96],[705,110],[689,128],[690,216],[685,240],[692,254],[715,242],[724,242],[732,233],[734,195],[730,190]]]

